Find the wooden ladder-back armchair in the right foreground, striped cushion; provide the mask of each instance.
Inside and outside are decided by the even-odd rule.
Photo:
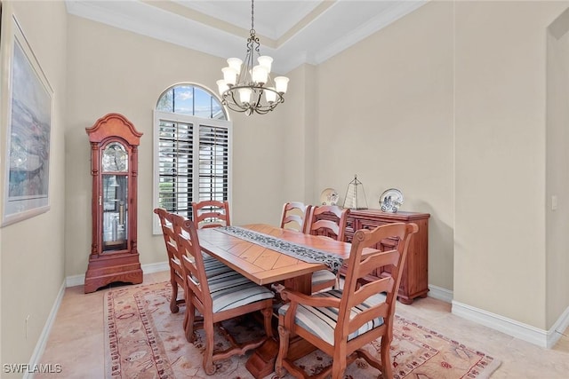
[[[379,369],[383,378],[393,377],[389,348],[393,339],[397,291],[409,241],[418,230],[416,224],[405,223],[381,225],[372,231],[358,230],[352,240],[343,289],[307,296],[284,288],[281,296],[288,303],[278,311],[280,342],[276,375],[283,377],[288,371],[297,378],[308,377],[301,367],[294,365],[293,358],[289,358],[293,353],[289,350],[290,337],[301,336],[333,358],[332,363],[316,376],[318,378],[328,375],[333,379],[342,378],[346,367],[357,358],[363,358]],[[363,249],[373,248],[388,238],[398,239],[396,249],[374,250],[362,255]],[[390,266],[390,275],[375,277],[364,285],[358,282],[380,266]],[[362,349],[379,338],[381,361]]]

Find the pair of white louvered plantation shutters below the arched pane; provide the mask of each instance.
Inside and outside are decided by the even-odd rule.
[[[229,201],[230,122],[157,111],[155,122],[155,207],[191,218],[192,201]]]

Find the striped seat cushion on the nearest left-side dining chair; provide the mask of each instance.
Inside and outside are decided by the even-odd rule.
[[[236,271],[225,272],[207,279],[212,295],[213,312],[227,311],[245,304],[271,299],[275,294]]]

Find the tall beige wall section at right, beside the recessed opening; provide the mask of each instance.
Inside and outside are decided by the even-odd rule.
[[[455,4],[454,300],[541,329],[569,305],[546,296],[545,230],[546,36],[568,5]]]

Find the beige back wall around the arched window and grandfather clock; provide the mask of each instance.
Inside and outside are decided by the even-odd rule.
[[[118,112],[144,133],[139,148],[140,263],[164,262],[164,241],[152,234],[152,112],[160,94],[174,83],[200,83],[215,90],[224,64],[224,59],[68,16],[66,170],[76,173],[66,178],[68,276],[84,274],[91,250],[91,157],[85,127],[104,114]],[[281,210],[282,112],[277,108],[265,116],[230,114],[234,121],[231,216],[236,224],[276,222]]]

